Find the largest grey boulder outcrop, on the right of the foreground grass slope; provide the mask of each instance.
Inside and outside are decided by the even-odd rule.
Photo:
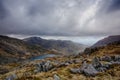
[[[102,64],[100,61],[107,61]],[[70,72],[84,74],[86,76],[95,76],[99,72],[105,72],[111,68],[111,65],[120,64],[120,56],[104,56],[102,58],[95,57],[90,64],[83,62],[80,68],[72,68]]]

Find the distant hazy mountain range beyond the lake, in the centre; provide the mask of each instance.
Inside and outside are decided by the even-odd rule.
[[[24,39],[29,44],[41,45],[43,48],[58,51],[63,54],[77,54],[85,49],[82,44],[67,40],[46,40],[40,37],[30,37]]]

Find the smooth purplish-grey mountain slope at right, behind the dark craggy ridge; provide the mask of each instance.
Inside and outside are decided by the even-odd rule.
[[[118,42],[118,41],[120,41],[120,35],[109,36],[109,37],[106,37],[106,38],[104,38],[102,40],[99,40],[97,43],[95,43],[92,46],[92,48],[106,46],[108,44]]]

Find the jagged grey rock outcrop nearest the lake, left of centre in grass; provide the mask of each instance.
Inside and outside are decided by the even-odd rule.
[[[57,69],[59,67],[65,67],[69,66],[70,64],[75,64],[79,63],[80,60],[67,60],[64,62],[59,62],[59,61],[42,61],[40,63],[34,64],[35,65],[35,73],[38,72],[47,72],[50,71],[51,69]]]

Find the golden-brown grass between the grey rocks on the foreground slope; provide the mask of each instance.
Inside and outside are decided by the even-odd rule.
[[[110,70],[107,70],[106,72],[99,73],[95,77],[87,77],[84,76],[83,74],[72,74],[70,72],[71,68],[79,68],[82,64],[82,60],[86,59],[88,63],[92,61],[94,57],[102,57],[104,55],[107,56],[112,56],[112,55],[120,55],[120,45],[115,45],[115,46],[107,46],[104,47],[94,53],[92,53],[90,56],[69,56],[69,57],[55,57],[55,58],[47,58],[45,60],[49,61],[59,61],[59,62],[64,62],[64,61],[69,61],[69,60],[74,60],[78,59],[80,60],[79,63],[76,64],[70,64],[69,66],[62,66],[62,67],[57,67],[56,69],[52,69],[48,72],[41,72],[41,73],[34,73],[34,65],[35,63],[40,63],[41,60],[36,60],[36,61],[31,61],[30,63],[25,64],[24,67],[11,71],[9,73],[6,73],[4,75],[0,75],[0,80],[4,80],[5,77],[11,75],[11,74],[16,74],[18,79],[17,80],[54,80],[54,75],[58,75],[61,80],[120,80],[120,65],[113,65]],[[106,62],[102,62],[106,63]],[[54,63],[53,63],[54,64]],[[7,64],[4,67],[8,69],[12,69],[14,67],[19,66],[20,64]],[[56,64],[54,64],[57,66]]]

